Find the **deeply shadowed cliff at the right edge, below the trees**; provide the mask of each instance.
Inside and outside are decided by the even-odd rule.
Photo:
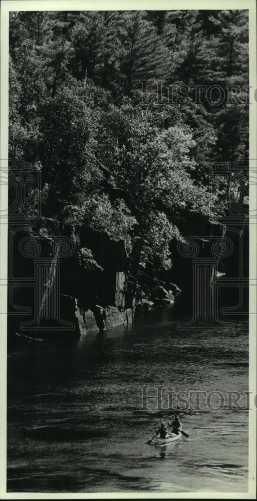
[[[239,315],[247,311],[249,273],[247,214],[240,218],[224,217],[220,223],[214,224],[209,222],[207,216],[199,217],[198,214],[188,213],[185,228],[182,230],[185,242],[172,242],[173,267],[167,274],[167,280],[177,283],[182,290],[176,304],[177,308],[180,311],[184,311],[185,308],[192,310],[195,296],[201,294],[206,296],[211,286],[215,288],[222,304],[229,305],[231,314]],[[208,275],[206,283],[201,275],[204,269]],[[200,308],[199,305],[199,312]]]

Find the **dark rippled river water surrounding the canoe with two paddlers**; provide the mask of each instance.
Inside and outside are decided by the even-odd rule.
[[[178,331],[176,323],[172,308],[166,308],[102,335],[13,347],[8,490],[247,491],[245,401],[240,409],[226,404],[220,409],[221,397],[213,394],[212,409],[205,398],[197,407],[190,393],[190,407],[179,412],[189,438],[166,447],[145,443],[160,420],[174,414],[166,390],[224,396],[248,390],[245,321],[191,331]],[[142,400],[144,385],[148,395],[156,394],[154,386],[164,387],[157,409],[157,401]]]

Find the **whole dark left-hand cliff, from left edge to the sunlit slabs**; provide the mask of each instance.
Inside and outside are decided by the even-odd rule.
[[[37,236],[11,229],[9,332],[79,336],[133,322],[142,239],[127,256],[124,240],[104,231],[65,226],[59,235],[46,221]]]

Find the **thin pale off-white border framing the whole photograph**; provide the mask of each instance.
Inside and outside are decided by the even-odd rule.
[[[42,1],[12,1],[2,0],[1,2],[1,149],[0,158],[8,158],[8,66],[9,66],[9,12],[10,11],[66,11],[66,10],[249,10],[249,85],[251,86],[249,107],[249,158],[254,159],[250,163],[256,176],[256,102],[254,100],[254,90],[257,89],[256,82],[256,2],[255,0],[159,0],[153,1],[130,1],[130,0],[42,0]],[[255,96],[257,98],[257,96]],[[1,169],[6,169],[7,160],[1,160]],[[253,172],[252,171],[252,172]],[[1,175],[2,171],[0,172]],[[0,177],[1,179],[1,177]],[[257,184],[257,183],[256,183]],[[256,184],[250,185],[250,210],[256,210]],[[0,209],[8,206],[7,186],[1,185]],[[7,224],[0,224],[0,277],[7,280],[7,249],[8,249],[8,227]],[[256,221],[249,226],[250,248],[249,248],[249,269],[250,279],[256,280]],[[3,287],[1,280],[0,288],[0,311],[7,311],[7,282]],[[256,312],[256,289],[249,287],[250,307],[249,311]],[[255,499],[256,493],[256,408],[253,403],[253,396],[256,395],[256,314],[250,315],[249,322],[249,391],[252,392],[250,398],[253,409],[249,412],[249,490],[248,492],[96,492],[96,493],[39,493],[39,492],[7,492],[6,491],[6,390],[7,390],[7,318],[0,316],[1,338],[0,338],[0,390],[2,393],[2,404],[0,414],[0,498],[1,499],[97,499],[97,498],[182,498],[182,499]]]

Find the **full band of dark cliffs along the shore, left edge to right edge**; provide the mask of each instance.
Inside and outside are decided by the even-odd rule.
[[[78,337],[131,323],[135,309],[162,307],[177,297],[178,308],[191,308],[202,287],[199,281],[195,290],[199,267],[208,268],[208,284],[217,278],[219,291],[227,295],[229,286],[236,289],[238,305],[246,301],[247,219],[211,225],[196,217],[191,225],[187,221],[193,233],[171,248],[172,269],[158,279],[154,270],[153,276],[139,273],[140,237],[128,256],[122,238],[85,225],[60,227],[42,218],[34,236],[10,228],[9,333]]]

